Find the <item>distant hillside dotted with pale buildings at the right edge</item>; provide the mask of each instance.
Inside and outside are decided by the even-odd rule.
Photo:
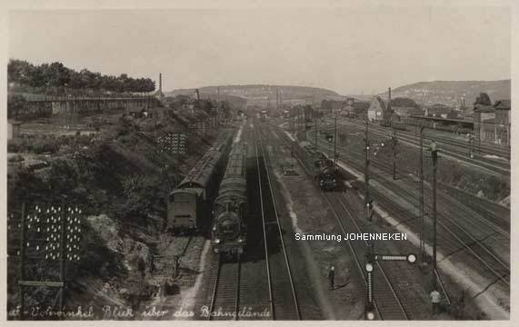
[[[510,80],[502,81],[434,81],[404,85],[391,91],[391,96],[408,97],[418,104],[460,104],[464,97],[465,105],[474,104],[475,98],[485,92],[492,101],[510,99]],[[380,94],[384,98],[387,92]]]

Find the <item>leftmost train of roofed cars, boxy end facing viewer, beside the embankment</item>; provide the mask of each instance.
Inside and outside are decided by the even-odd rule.
[[[204,154],[169,194],[166,229],[173,233],[199,233],[210,227],[211,206],[225,170],[226,154],[232,142],[224,135]]]

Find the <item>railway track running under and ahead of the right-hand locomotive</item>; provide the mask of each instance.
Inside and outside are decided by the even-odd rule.
[[[278,131],[275,130],[275,132],[277,133]],[[280,139],[287,143],[284,134],[280,134]],[[300,160],[300,158],[297,159],[304,168],[305,173],[311,175],[308,167],[304,166],[304,163]],[[353,214],[349,211],[347,205],[344,203],[344,197],[342,196],[342,193],[324,193],[321,190],[320,192],[328,203],[329,207],[332,209],[334,217],[344,234],[346,234],[346,231],[356,231],[358,233],[367,232],[365,230],[363,231],[359,224],[355,222]],[[364,277],[363,282],[364,285],[366,285],[364,255],[367,253],[367,242],[352,242],[348,239],[347,243],[350,252],[354,254],[356,267],[360,272],[360,275]],[[405,311],[404,305],[399,295],[395,291],[394,285],[391,282],[387,272],[384,269],[384,265],[378,262],[376,265],[378,271],[374,274],[374,289],[376,289],[374,295],[374,304],[378,318],[381,320],[409,320],[409,315]]]

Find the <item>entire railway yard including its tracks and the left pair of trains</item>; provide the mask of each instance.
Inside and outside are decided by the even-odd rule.
[[[480,189],[485,197],[464,187],[474,181],[458,180],[454,185],[448,175],[464,171],[483,181],[506,179],[509,153],[503,149],[484,145],[481,153],[468,156],[461,137],[431,131],[422,141],[421,201],[416,168],[420,139],[413,131],[394,132],[378,124],[366,129],[362,121],[326,117],[310,128],[295,129],[290,118],[248,117],[215,132],[211,134],[214,141],[197,154],[198,159],[184,165],[185,177],[167,200],[165,228],[157,229],[155,236],[143,231],[132,236],[139,241],[118,241],[125,244],[125,252],[138,248],[138,255],[147,256],[148,261],[152,258],[143,269],[135,263],[137,254],[125,259],[135,264],[135,274],[140,271],[142,287],[149,294],[133,302],[130,316],[105,312],[102,319],[509,317],[510,210],[495,202],[484,185]],[[330,134],[339,135],[336,144]],[[366,135],[371,145],[369,170]],[[442,175],[435,205],[428,151],[433,137],[441,149]],[[394,138],[397,143],[392,147]],[[142,133],[138,140],[155,146]],[[139,164],[149,167],[153,163]],[[369,219],[366,196],[372,201]],[[157,218],[159,226],[162,218]],[[110,223],[107,216],[91,216],[89,221],[106,242],[114,236],[103,236],[105,228],[121,233],[122,227]],[[373,242],[346,239],[352,233],[406,237]],[[343,239],[303,241],[296,234],[342,235]],[[379,258],[414,255],[415,260],[379,260],[368,271],[374,254]],[[85,287],[89,281],[79,285]],[[131,281],[125,285],[134,285]],[[110,291],[116,284],[108,281],[104,288],[99,285],[91,292],[104,299],[105,305],[123,305],[124,296]],[[429,298],[433,289],[439,290],[442,299],[435,315]]]

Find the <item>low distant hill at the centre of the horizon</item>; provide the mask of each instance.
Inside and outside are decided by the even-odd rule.
[[[342,100],[343,97],[334,91],[308,86],[294,85],[223,85],[223,86],[204,86],[200,87],[201,97],[215,98],[220,88],[220,98],[227,96],[236,96],[247,101],[247,105],[266,106],[269,102],[271,105],[276,104],[277,90],[284,104],[308,104],[321,103],[323,99]],[[195,93],[195,89],[178,89],[168,92],[166,95],[175,96],[178,94],[191,95]]]

